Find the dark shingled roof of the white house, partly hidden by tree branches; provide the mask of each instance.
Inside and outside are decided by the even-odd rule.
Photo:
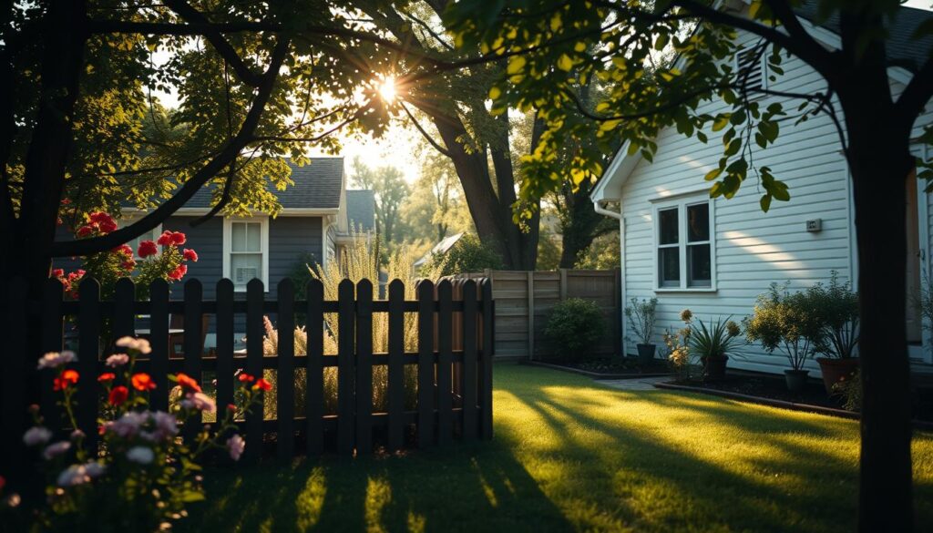
[[[821,21],[816,14],[816,9],[816,2],[807,2],[794,11],[802,18],[839,34],[838,11],[833,12],[827,20]],[[933,50],[933,35],[924,35],[918,39],[913,37],[913,33],[917,26],[930,19],[933,19],[933,11],[904,6],[898,8],[893,21],[884,19],[884,25],[889,34],[886,42],[887,57],[893,66],[902,66],[916,73],[926,62],[930,50]]]

